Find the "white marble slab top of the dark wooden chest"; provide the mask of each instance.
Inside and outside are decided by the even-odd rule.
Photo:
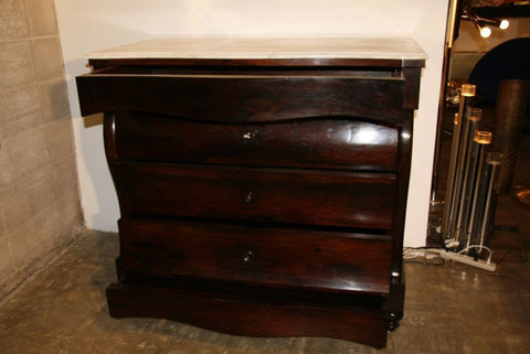
[[[425,60],[411,39],[156,39],[93,52],[88,58]]]

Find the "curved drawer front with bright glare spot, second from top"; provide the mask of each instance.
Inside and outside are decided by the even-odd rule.
[[[394,171],[398,129],[324,117],[222,125],[139,112],[116,117],[118,159]]]

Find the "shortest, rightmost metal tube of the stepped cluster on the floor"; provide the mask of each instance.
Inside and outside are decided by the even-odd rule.
[[[479,234],[480,234],[480,246],[484,246],[484,243],[487,238],[488,226],[492,217],[495,217],[495,212],[492,208],[494,195],[497,193],[496,184],[499,175],[500,163],[502,162],[502,153],[500,152],[489,152],[486,155],[486,181],[488,184],[488,190],[486,192],[486,201],[484,203],[484,213],[480,221]],[[479,248],[480,253],[483,249]]]

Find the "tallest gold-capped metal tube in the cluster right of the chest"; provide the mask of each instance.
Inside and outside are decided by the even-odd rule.
[[[447,174],[447,186],[445,190],[444,213],[442,216],[442,236],[445,239],[455,238],[454,235],[454,219],[458,200],[456,197],[459,191],[459,180],[457,173],[458,158],[462,154],[463,140],[463,121],[467,107],[471,98],[475,96],[476,86],[470,84],[462,85],[460,89],[460,106],[458,114],[455,115],[455,122],[453,129],[453,142],[451,148],[449,170]]]

